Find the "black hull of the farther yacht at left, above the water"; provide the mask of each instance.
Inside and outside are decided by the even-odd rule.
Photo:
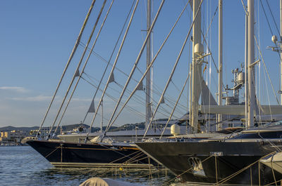
[[[54,166],[149,168],[155,164],[137,147],[30,140],[27,144]]]

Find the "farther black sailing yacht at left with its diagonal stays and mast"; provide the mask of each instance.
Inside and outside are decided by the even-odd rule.
[[[56,96],[57,91],[59,90],[59,87],[61,86],[61,81],[63,80],[63,77],[65,76],[66,73],[66,69],[68,69],[68,65],[70,64],[73,55],[75,53],[75,51],[78,48],[78,45],[81,45],[80,39],[82,36],[82,33],[84,32],[85,26],[87,24],[88,19],[90,18],[90,13],[92,12],[92,9],[94,7],[95,4],[95,0],[92,1],[92,4],[90,6],[90,9],[87,13],[87,16],[85,18],[85,22],[82,25],[82,28],[80,29],[80,34],[78,35],[78,39],[75,42],[75,46],[73,48],[73,51],[70,55],[70,58],[68,59],[68,62],[66,64],[66,67],[63,71],[63,74],[61,76],[61,79],[59,80],[59,84],[56,87],[56,91],[54,92],[53,98],[49,104],[49,107],[47,108],[47,112],[44,115],[44,118],[42,120],[42,124],[39,128],[42,128],[45,119],[47,118],[47,115],[49,114],[49,109],[51,107],[51,105],[54,102],[54,98]],[[116,52],[116,46],[118,46],[118,44],[120,44],[120,47],[118,48],[118,52],[116,55],[116,59],[114,60],[114,63],[112,64],[112,68],[111,68],[111,72],[109,74],[109,77],[106,81],[106,84],[104,86],[104,90],[102,90],[101,85],[102,85],[102,79],[104,78],[104,75],[106,74],[106,70],[109,67],[109,62],[111,60],[109,60],[109,62],[107,62],[106,65],[106,69],[104,70],[104,74],[102,75],[102,79],[99,81],[99,84],[95,87],[96,91],[94,93],[94,97],[92,98],[92,102],[90,105],[90,108],[88,109],[88,113],[94,113],[94,116],[92,118],[91,124],[90,124],[90,128],[92,128],[92,125],[94,124],[94,120],[97,118],[97,114],[98,114],[98,110],[102,109],[102,105],[103,105],[103,99],[104,96],[107,95],[106,90],[109,87],[109,84],[116,82],[115,78],[114,78],[114,70],[118,69],[116,67],[116,63],[118,61],[118,57],[120,55],[121,49],[123,48],[123,44],[125,41],[125,38],[128,34],[128,30],[130,28],[131,22],[133,20],[133,16],[135,15],[135,11],[137,8],[139,0],[137,1],[133,1],[132,2],[132,6],[130,8],[130,11],[128,13],[127,18],[125,19],[123,28],[121,29],[120,35],[118,36],[118,39],[116,41],[116,45],[114,47],[114,50],[111,53],[111,57],[114,55],[114,53]],[[123,98],[123,93],[125,93],[126,87],[129,84],[130,79],[132,79],[133,77],[133,72],[135,71],[136,67],[137,67],[137,63],[139,62],[142,52],[145,50],[145,47],[147,47],[147,68],[146,68],[146,73],[143,75],[143,79],[144,77],[146,77],[146,124],[148,125],[148,123],[152,124],[152,93],[150,93],[150,86],[152,86],[152,81],[150,80],[150,77],[148,74],[150,74],[150,69],[152,67],[152,58],[151,58],[151,49],[150,49],[150,34],[152,33],[152,29],[154,27],[154,24],[158,18],[159,12],[161,11],[161,8],[164,4],[164,1],[161,1],[161,4],[159,6],[159,10],[157,11],[157,14],[155,15],[154,20],[151,22],[151,11],[150,11],[150,1],[148,1],[148,5],[147,5],[147,36],[145,41],[142,44],[142,48],[140,49],[140,53],[137,55],[137,59],[134,63],[134,67],[132,72],[130,72],[130,74],[128,75],[128,80],[125,84],[125,86],[123,87],[123,91],[120,95],[120,98],[118,99],[114,99],[114,101],[116,101],[116,107],[114,109],[114,112],[111,116],[111,119],[109,119],[109,124],[106,127],[105,131],[102,131],[102,124],[101,124],[101,136],[92,136],[90,134],[90,131],[88,131],[85,135],[83,135],[82,139],[75,141],[75,140],[60,140],[60,139],[56,139],[55,135],[56,135],[56,131],[59,127],[59,124],[61,124],[61,120],[63,118],[63,115],[66,112],[66,109],[71,101],[71,98],[73,97],[73,94],[75,92],[75,88],[78,86],[78,82],[80,81],[80,79],[85,79],[82,77],[82,74],[86,74],[85,73],[85,67],[87,65],[87,62],[90,58],[90,56],[92,55],[93,48],[96,44],[97,38],[102,30],[102,28],[104,27],[104,22],[106,21],[106,18],[109,14],[109,11],[111,10],[111,6],[114,3],[114,1],[111,1],[111,4],[109,5],[109,9],[108,12],[106,13],[105,17],[104,17],[104,21],[102,22],[102,25],[99,29],[99,32],[97,32],[97,37],[94,41],[94,44],[92,45],[92,48],[90,49],[89,45],[90,45],[90,41],[92,39],[93,34],[95,33],[95,29],[97,27],[97,23],[99,22],[99,18],[102,15],[102,12],[104,10],[105,4],[106,4],[106,0],[103,1],[101,10],[99,11],[99,14],[97,15],[97,20],[95,22],[95,24],[93,25],[93,29],[92,32],[90,34],[90,37],[87,41],[87,44],[84,44],[84,51],[82,52],[82,57],[80,58],[79,62],[78,62],[78,67],[75,69],[75,72],[73,73],[73,78],[71,79],[71,83],[68,86],[68,89],[66,91],[65,96],[63,97],[63,101],[61,102],[61,106],[59,107],[59,111],[56,114],[56,117],[53,121],[53,123],[51,124],[51,128],[49,130],[49,133],[47,135],[46,138],[42,138],[42,136],[40,136],[40,133],[37,133],[37,136],[35,138],[26,138],[24,141],[30,145],[31,147],[33,147],[35,150],[37,150],[37,152],[39,152],[39,154],[42,154],[42,156],[44,158],[46,158],[48,161],[51,162],[51,164],[53,164],[54,166],[90,166],[90,167],[126,167],[126,168],[149,168],[152,166],[157,166],[157,163],[155,161],[153,161],[152,159],[150,159],[149,157],[147,157],[146,154],[144,154],[143,152],[141,152],[135,144],[133,144],[132,142],[121,142],[121,141],[113,141],[113,140],[109,140],[106,136],[108,134],[111,134],[109,132],[109,128],[111,128],[111,126],[114,124],[114,122],[116,121],[115,114],[118,115],[120,114],[120,112],[117,112],[117,108],[118,105],[121,103],[121,99]],[[187,6],[188,4],[186,4]],[[186,7],[185,6],[185,7]],[[185,8],[184,8],[185,10]],[[183,11],[184,11],[183,10]],[[127,26],[127,27],[126,27]],[[174,25],[175,27],[175,25]],[[172,29],[171,29],[172,30]],[[124,32],[124,33],[123,33]],[[123,34],[123,37],[121,37]],[[169,34],[168,34],[169,35]],[[122,38],[122,40],[120,41],[120,38]],[[167,38],[166,38],[167,39]],[[80,65],[82,64],[82,60],[85,56],[85,53],[89,51],[89,55],[87,57],[87,60],[85,61],[85,64],[83,65],[82,68],[80,68]],[[155,59],[154,59],[155,60]],[[71,88],[73,86],[73,83],[76,81],[76,84],[74,85],[73,91],[71,91]],[[87,81],[87,80],[85,80]],[[91,82],[87,81],[89,84],[91,84]],[[92,85],[92,84],[91,84]],[[94,98],[97,95],[98,91],[102,90],[102,95],[101,98],[99,99],[99,103],[97,107],[94,107]],[[142,86],[142,80],[140,80],[138,82],[138,85],[135,88],[136,90],[142,90],[143,86]],[[66,98],[69,95],[69,100],[68,102],[66,102]],[[131,95],[130,95],[131,96]],[[109,98],[111,98],[111,96],[109,95]],[[63,106],[66,102],[66,107],[65,109],[63,109]],[[123,105],[123,107],[125,107],[125,105]],[[103,111],[103,109],[102,109]],[[59,118],[59,115],[61,114],[61,119]],[[103,119],[103,114],[102,115],[102,119]],[[85,116],[86,118],[86,116]],[[102,120],[101,119],[101,120]],[[56,129],[54,129],[54,126],[56,124],[56,122],[58,122],[58,125],[56,126]],[[82,121],[82,124],[84,124],[85,119]],[[169,119],[169,121],[171,121],[171,119]],[[168,121],[168,122],[169,122]],[[168,122],[166,123],[166,126],[168,125]],[[155,131],[155,128],[152,128],[151,131]],[[185,128],[186,130],[186,128]],[[53,132],[54,131],[54,132]],[[167,131],[167,130],[166,130]],[[135,133],[135,131],[134,131]],[[142,135],[144,134],[148,134],[150,133],[150,130],[147,131],[143,131]],[[167,132],[165,133],[161,133],[160,131],[157,131],[152,133],[152,136],[159,136],[159,135],[168,135]],[[128,136],[130,136],[130,138],[132,138],[132,134],[127,133]],[[94,137],[94,138],[93,138]],[[96,138],[97,137],[97,138]]]

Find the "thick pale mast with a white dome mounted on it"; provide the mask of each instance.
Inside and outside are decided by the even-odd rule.
[[[202,62],[199,60],[197,53],[202,52],[204,48],[201,44],[201,10],[196,14],[199,7],[200,0],[193,0],[193,20],[195,20],[195,22],[192,36],[192,87],[190,87],[192,88],[192,102],[190,107],[190,125],[192,133],[197,133],[200,129],[198,128],[198,111],[201,93],[200,86],[202,84]],[[197,18],[195,18],[196,15]]]

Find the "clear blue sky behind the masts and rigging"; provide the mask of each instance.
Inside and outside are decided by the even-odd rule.
[[[269,0],[268,0],[269,1]],[[62,0],[62,1],[1,1],[0,2],[0,126],[39,126],[41,124],[44,113],[46,112],[51,95],[54,93],[56,85],[59,82],[63,68],[66,65],[71,50],[75,44],[75,40],[82,26],[82,22],[85,19],[87,11],[92,1],[74,1],[74,0]],[[157,52],[159,46],[169,29],[177,19],[180,11],[186,4],[186,0],[172,1],[167,0],[164,4],[159,20],[157,20],[154,28],[154,53]],[[247,4],[247,1],[244,1]],[[111,1],[107,1],[104,12],[102,13],[102,19],[106,10],[109,8]],[[262,0],[266,15],[270,20],[271,29],[274,34],[278,35],[274,21],[269,13],[266,0]],[[109,19],[106,21],[105,27],[102,30],[102,34],[97,41],[97,45],[94,51],[99,53],[103,58],[109,60],[111,51],[114,48],[118,34],[121,31],[125,17],[128,14],[132,1],[116,0],[114,2]],[[160,1],[154,1],[154,15],[157,12]],[[269,5],[276,23],[279,25],[279,4],[278,1],[269,1]],[[93,13],[90,17],[89,24],[85,28],[85,33],[82,36],[82,42],[86,43],[87,38],[91,32],[94,21],[97,18],[99,9],[102,6],[102,0],[97,0],[94,6]],[[209,0],[204,1],[202,11],[202,29],[203,32],[207,32],[207,26],[211,21],[214,11],[216,10],[217,1]],[[260,1],[255,3],[255,17],[256,17],[256,32],[259,37],[260,48],[264,55],[266,67],[268,68],[271,76],[271,81],[274,84],[274,89],[277,93],[279,86],[279,58],[278,54],[273,51],[266,50],[266,46],[273,46],[271,42],[271,33],[269,26],[267,25],[264,12]],[[156,60],[154,65],[154,88],[159,87],[161,92],[166,84],[168,75],[171,72],[176,57],[180,51],[181,45],[185,39],[185,35],[190,27],[190,15],[191,10],[188,6],[187,10],[180,19],[175,32],[168,39],[168,44],[164,47],[160,56]],[[217,65],[217,23],[218,13],[214,17],[212,27],[209,31],[209,47],[212,49],[212,55]],[[125,46],[121,52],[121,56],[118,60],[117,67],[122,69],[123,72],[129,74],[133,67],[133,62],[137,57],[142,42],[145,39],[146,29],[146,8],[145,0],[140,0],[140,4],[137,7],[137,12],[133,20],[133,25],[130,28],[128,39],[125,41]],[[97,30],[99,29],[102,19],[99,21]],[[97,31],[94,34],[96,36]],[[191,33],[192,34],[192,33]],[[223,0],[223,78],[224,84],[231,85],[231,69],[240,67],[240,62],[244,62],[244,39],[245,39],[245,15],[243,5],[240,1],[227,1]],[[94,40],[92,39],[92,42]],[[91,43],[92,44],[92,43]],[[177,88],[183,86],[185,77],[188,72],[188,62],[191,60],[190,55],[190,43],[185,47],[185,52],[180,59],[179,66],[175,77],[173,77],[173,83],[176,86],[171,85],[167,92],[167,97],[171,100],[176,100],[179,91]],[[119,46],[119,44],[118,44]],[[83,48],[78,48],[78,53],[73,58],[73,62],[69,67],[66,74],[66,79],[63,81],[62,87],[59,91],[59,97],[56,98],[54,107],[52,107],[49,117],[47,118],[45,126],[49,126],[54,119],[54,114],[58,109],[59,103],[63,97],[63,94],[68,87],[69,81],[73,74],[73,71],[77,65]],[[87,55],[86,55],[87,56]],[[257,58],[256,52],[256,58]],[[116,52],[111,62],[114,62]],[[86,58],[86,57],[85,57]],[[84,62],[84,61],[83,61]],[[212,89],[212,93],[216,92],[217,74],[213,62],[212,65],[211,83],[209,86]],[[92,56],[90,58],[89,65],[85,72],[90,74],[95,79],[100,79],[106,63]],[[145,71],[145,55],[142,55],[140,64],[138,65],[142,72]],[[109,75],[109,70],[106,73]],[[259,67],[257,67],[257,76],[259,77]],[[115,71],[115,77],[118,84],[125,84],[126,78],[117,70]],[[136,71],[133,76],[135,79],[140,79],[140,72]],[[206,74],[204,74],[206,77]],[[209,75],[208,75],[209,77]],[[258,79],[257,77],[257,79]],[[271,91],[269,79],[264,78],[264,67],[261,64],[260,67],[260,86],[257,86],[257,94],[261,102],[264,104],[276,104],[274,93]],[[259,81],[259,80],[257,80]],[[104,82],[104,81],[103,81]],[[209,82],[209,79],[208,79]],[[97,84],[97,81],[94,80]],[[145,81],[144,81],[145,83]],[[135,86],[134,81],[130,84],[129,89],[132,90]],[[121,92],[116,84],[111,84],[111,88]],[[177,87],[177,88],[176,88]],[[104,86],[102,86],[104,88]],[[90,105],[90,100],[94,94],[94,88],[87,84],[85,81],[81,81],[78,87],[78,91],[75,92],[73,101],[71,102],[70,109],[66,113],[66,117],[63,119],[63,124],[74,124],[80,122],[87,107]],[[154,89],[156,90],[156,89]],[[268,93],[267,93],[268,90]],[[109,94],[118,98],[118,94],[112,89],[109,89]],[[185,107],[187,107],[187,88],[183,98],[181,98],[181,106],[176,112],[176,117],[180,117],[185,113]],[[242,91],[243,93],[243,91]],[[99,101],[98,94],[95,99],[95,105]],[[136,95],[140,98],[130,102],[130,106],[134,107],[140,113],[144,113],[144,105],[139,101],[141,98],[145,98],[145,93],[138,92]],[[269,95],[269,98],[268,98]],[[136,100],[139,99],[139,100]],[[106,118],[109,118],[112,106],[115,104],[110,98],[106,97],[104,105],[104,114]],[[124,100],[124,99],[123,99]],[[154,100],[159,100],[159,95],[154,94]],[[170,112],[173,105],[166,100],[167,105],[163,105],[164,109],[157,115],[157,118],[164,118]],[[111,106],[111,107],[110,107]],[[90,118],[87,120],[89,124]],[[124,112],[116,122],[116,125],[125,123],[135,123],[144,121],[144,117],[133,112]],[[99,124],[99,118],[95,124]],[[106,124],[106,120],[104,121]]]

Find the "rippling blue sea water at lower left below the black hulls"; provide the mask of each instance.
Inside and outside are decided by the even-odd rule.
[[[144,185],[171,185],[168,171],[119,168],[55,168],[30,146],[0,147],[0,185],[80,185],[92,177]]]

